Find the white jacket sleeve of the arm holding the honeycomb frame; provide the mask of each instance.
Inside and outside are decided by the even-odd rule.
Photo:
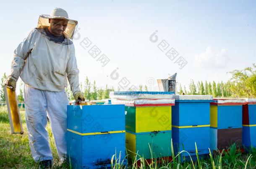
[[[26,61],[26,58],[28,57],[29,53],[33,49],[31,47],[31,40],[34,34],[34,31],[37,31],[36,29],[33,29],[27,38],[21,42],[18,47],[14,50],[13,54],[13,61],[11,63],[11,71],[10,71],[10,77],[14,80],[18,80],[21,70],[24,66],[24,63]]]

